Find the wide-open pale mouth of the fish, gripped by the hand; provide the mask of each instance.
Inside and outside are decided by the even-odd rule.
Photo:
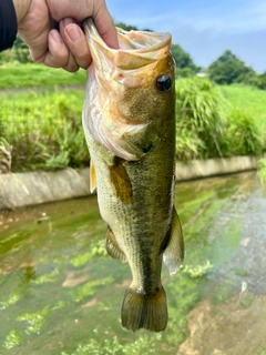
[[[91,18],[84,20],[83,27],[93,60],[99,58],[96,50],[100,49],[120,69],[139,69],[170,53],[172,36],[167,32],[125,31],[116,27],[120,48],[112,49],[103,41]]]

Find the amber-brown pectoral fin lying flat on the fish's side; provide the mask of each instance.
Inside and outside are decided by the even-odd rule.
[[[129,204],[132,199],[132,185],[127,172],[119,158],[114,165],[109,166],[109,171],[114,194],[123,203]]]

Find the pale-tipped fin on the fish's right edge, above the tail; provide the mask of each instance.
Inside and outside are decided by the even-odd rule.
[[[175,274],[182,266],[184,260],[184,241],[180,217],[173,209],[173,220],[168,243],[163,253],[164,263],[170,275]]]

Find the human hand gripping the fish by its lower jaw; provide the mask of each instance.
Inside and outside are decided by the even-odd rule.
[[[92,17],[111,48],[119,48],[116,30],[105,0],[13,0],[19,36],[35,62],[75,72],[86,69],[91,54],[81,22]],[[55,29],[59,23],[59,30]]]

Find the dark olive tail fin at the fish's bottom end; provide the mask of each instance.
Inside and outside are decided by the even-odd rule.
[[[152,295],[136,293],[129,288],[122,305],[122,325],[136,332],[145,328],[151,332],[162,332],[167,325],[167,304],[163,287]]]

